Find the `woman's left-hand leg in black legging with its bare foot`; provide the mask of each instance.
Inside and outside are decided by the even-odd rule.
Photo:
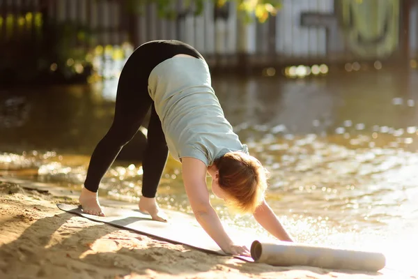
[[[137,133],[152,100],[148,95],[148,75],[141,77],[140,65],[128,63],[122,70],[116,93],[115,116],[111,128],[91,156],[84,188],[80,196],[83,211],[103,215],[97,192],[104,174],[123,146]]]

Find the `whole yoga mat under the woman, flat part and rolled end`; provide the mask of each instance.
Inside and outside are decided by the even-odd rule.
[[[162,223],[151,220],[148,214],[141,213],[139,210],[102,207],[106,216],[100,217],[83,213],[81,206],[68,204],[57,204],[57,206],[63,211],[75,213],[90,220],[226,256],[194,218],[183,213],[172,215],[168,223]],[[277,241],[277,243],[254,241],[254,236],[234,232],[231,229],[228,231],[233,233],[231,235],[234,239],[251,247],[251,257],[236,256],[247,262],[260,262],[272,266],[316,266],[324,269],[359,271],[378,271],[385,267],[385,256],[379,252],[343,250],[282,241]]]

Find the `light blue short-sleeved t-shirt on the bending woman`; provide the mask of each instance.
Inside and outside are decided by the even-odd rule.
[[[192,157],[206,166],[231,151],[248,153],[225,119],[203,59],[177,56],[158,64],[148,78],[171,156]]]

